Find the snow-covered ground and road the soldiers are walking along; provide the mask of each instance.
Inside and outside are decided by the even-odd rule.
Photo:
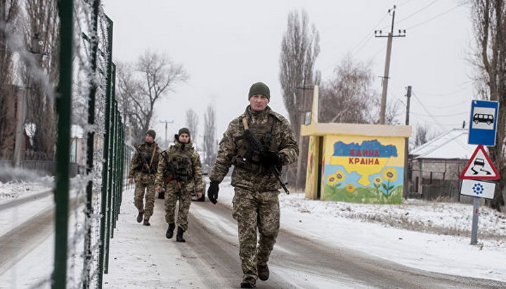
[[[4,247],[0,261],[10,259],[0,268],[0,288],[34,284],[50,288],[54,238],[51,230],[43,230],[46,238],[37,237],[36,231],[51,226],[52,221],[44,220],[54,204],[50,195],[39,195],[42,191],[30,190],[22,198],[0,202],[0,247]],[[155,201],[152,226],[138,224],[133,194],[124,191],[104,288],[238,287],[242,272],[230,185],[223,184],[216,206],[192,203],[186,243],[165,238],[163,200]],[[25,202],[30,195],[40,198]],[[453,229],[467,226],[467,205],[411,200],[397,206],[371,206],[305,200],[303,194],[291,193],[280,195],[280,206],[282,230],[269,262],[271,278],[258,281],[258,288],[506,288],[503,238],[480,239],[479,246],[470,246],[467,235],[421,233],[347,217],[351,213],[375,219],[386,216],[394,218],[387,219],[392,223],[404,216],[414,224],[426,220]],[[82,218],[81,209],[74,210],[71,219],[75,218]],[[77,224],[71,220],[70,231],[79,229]],[[505,225],[502,214],[483,208],[480,232],[504,236]],[[71,252],[80,252],[82,238],[71,232],[70,236],[77,240]],[[42,240],[39,245],[37,238]],[[32,249],[20,252],[20,248]],[[24,257],[9,257],[14,250]],[[79,287],[81,266],[79,256],[70,258],[70,288]]]

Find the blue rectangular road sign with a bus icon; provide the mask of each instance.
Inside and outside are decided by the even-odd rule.
[[[469,144],[495,146],[498,110],[497,101],[472,101]]]

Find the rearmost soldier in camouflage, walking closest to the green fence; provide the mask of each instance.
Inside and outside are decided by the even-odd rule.
[[[138,146],[147,163],[143,162],[138,150],[130,162],[129,184],[134,183],[134,203],[138,210],[137,222],[144,217],[144,226],[150,226],[149,219],[155,207],[155,174],[157,172],[158,157],[162,150],[155,143],[156,133],[150,129],[145,134],[145,143]],[[145,198],[145,205],[143,199]]]

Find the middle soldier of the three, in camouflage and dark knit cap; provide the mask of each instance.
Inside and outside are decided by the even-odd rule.
[[[185,242],[183,233],[188,230],[191,193],[195,191],[197,192],[197,198],[201,198],[204,181],[202,180],[200,156],[193,148],[193,142],[190,140],[190,130],[183,127],[179,129],[179,133],[174,138],[174,146],[164,150],[160,157],[155,185],[156,191],[162,191],[163,186],[165,189],[165,220],[169,224],[165,236],[169,239],[174,236],[176,227],[174,214],[176,212],[176,202],[179,200],[176,241]],[[172,179],[168,181],[170,178]],[[168,181],[167,184],[164,184],[164,179]]]

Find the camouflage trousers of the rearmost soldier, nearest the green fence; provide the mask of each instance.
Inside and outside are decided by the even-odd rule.
[[[150,174],[136,174],[134,204],[138,212],[144,212],[144,219],[149,220],[155,207],[155,179]],[[144,205],[145,198],[145,205]]]

